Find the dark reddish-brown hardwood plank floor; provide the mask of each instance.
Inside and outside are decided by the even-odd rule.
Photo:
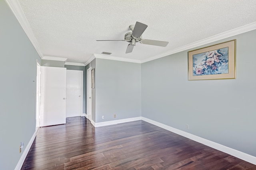
[[[94,128],[84,117],[40,128],[22,170],[256,170],[144,121]]]

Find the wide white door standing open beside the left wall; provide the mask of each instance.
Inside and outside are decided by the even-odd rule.
[[[40,126],[66,123],[66,68],[41,66]]]

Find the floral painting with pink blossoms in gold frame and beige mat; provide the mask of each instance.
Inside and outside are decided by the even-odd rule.
[[[188,52],[188,80],[236,78],[236,40]]]

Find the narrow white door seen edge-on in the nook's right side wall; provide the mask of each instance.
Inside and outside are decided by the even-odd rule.
[[[91,70],[92,68],[87,69],[87,96],[86,96],[86,104],[87,104],[87,118],[88,120],[92,120],[92,87],[91,87]]]

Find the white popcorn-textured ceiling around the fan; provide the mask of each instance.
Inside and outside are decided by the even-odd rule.
[[[146,60],[187,44],[256,22],[255,0],[18,0],[44,56],[85,63],[92,54]],[[121,40],[136,21],[145,39],[166,47]]]

